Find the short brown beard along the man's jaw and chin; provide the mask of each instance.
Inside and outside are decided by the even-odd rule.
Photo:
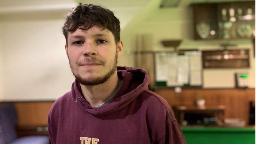
[[[117,66],[117,58],[118,58],[118,55],[117,55],[117,51],[116,51],[116,55],[115,55],[115,60],[114,60],[114,65],[113,67],[110,69],[109,72],[107,72],[105,75],[103,75],[102,77],[97,77],[97,78],[94,78],[93,80],[86,80],[86,79],[83,79],[79,73],[75,74],[72,70],[72,67],[71,67],[71,64],[70,64],[70,60],[69,60],[69,56],[68,56],[68,61],[69,61],[69,64],[70,64],[70,68],[71,68],[71,71],[73,73],[73,75],[75,76],[76,80],[82,84],[82,85],[99,85],[99,84],[103,84],[104,82],[106,82],[110,76],[112,76],[115,71],[116,71],[116,66]]]

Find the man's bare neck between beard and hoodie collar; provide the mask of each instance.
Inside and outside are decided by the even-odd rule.
[[[85,99],[92,107],[95,107],[107,101],[107,99],[109,99],[118,89],[120,82],[121,80],[119,80],[117,72],[115,72],[103,84],[93,86],[80,84],[80,86]]]

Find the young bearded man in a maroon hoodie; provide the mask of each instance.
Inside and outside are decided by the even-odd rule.
[[[148,90],[147,73],[117,67],[123,43],[112,11],[80,3],[63,33],[76,79],[51,107],[51,144],[186,143],[171,107]]]

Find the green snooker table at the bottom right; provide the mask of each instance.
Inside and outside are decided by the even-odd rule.
[[[182,127],[187,144],[255,144],[255,127]]]

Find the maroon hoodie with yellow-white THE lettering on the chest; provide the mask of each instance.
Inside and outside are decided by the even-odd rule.
[[[186,143],[169,104],[148,90],[145,71],[118,67],[118,77],[122,88],[99,108],[90,106],[75,81],[51,107],[51,144]]]

